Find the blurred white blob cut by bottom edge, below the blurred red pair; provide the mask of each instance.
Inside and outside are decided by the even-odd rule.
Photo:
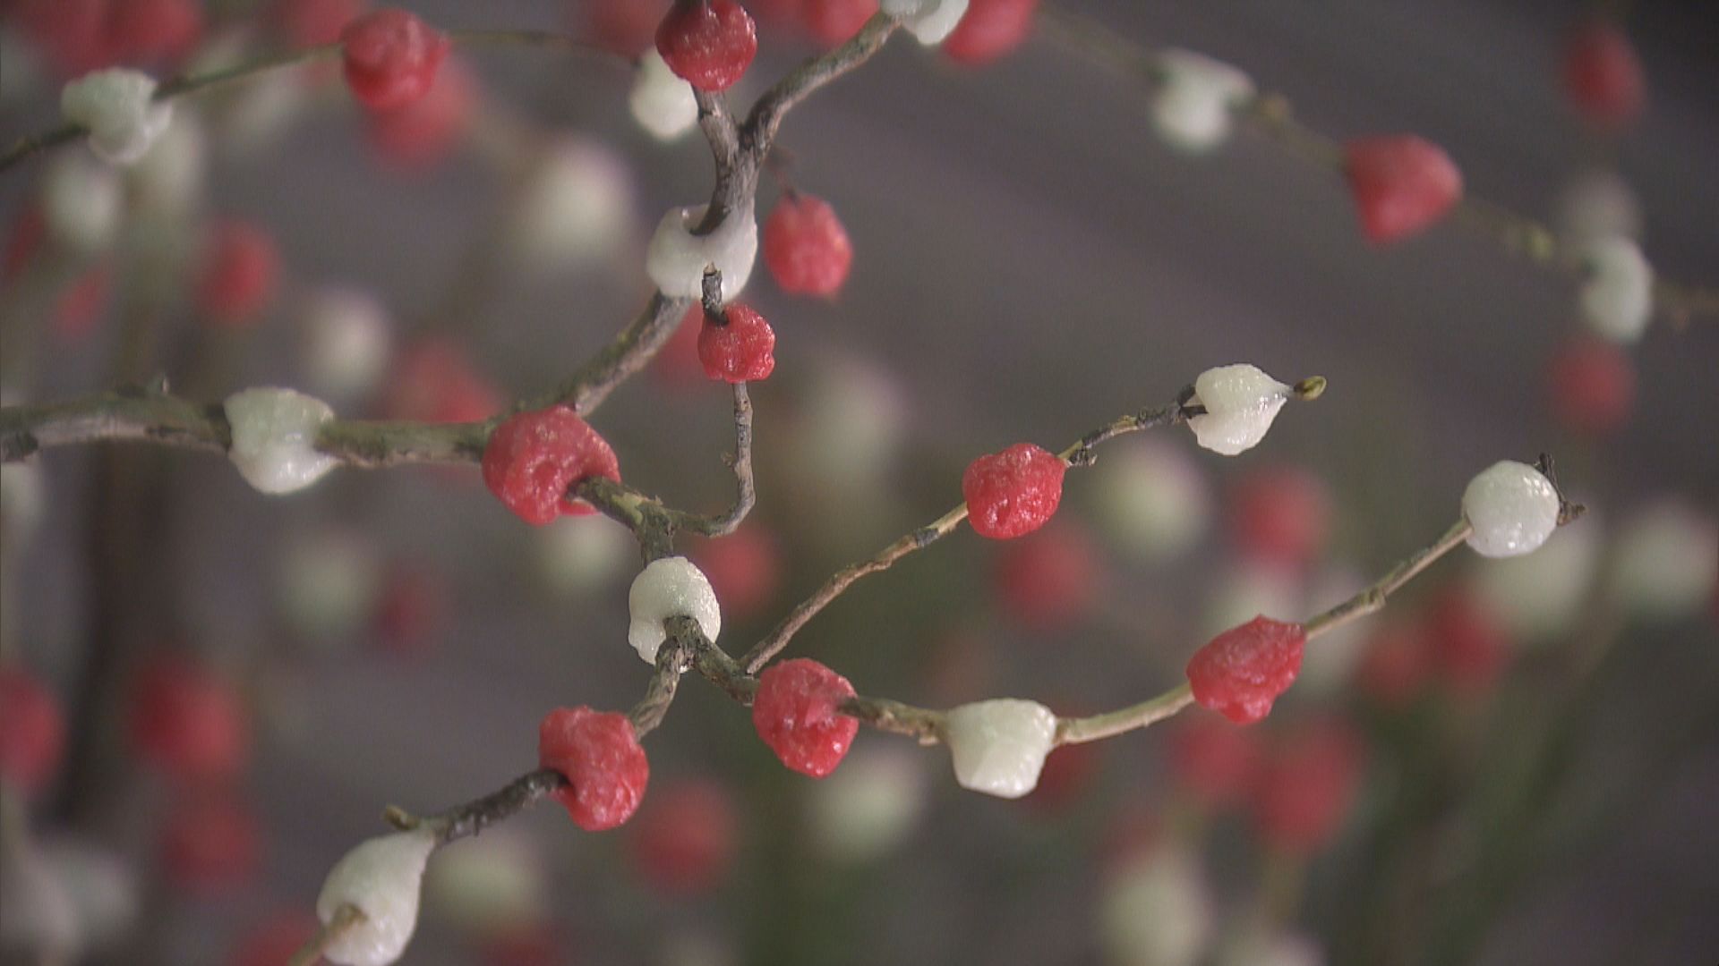
[[[1129,859],[1104,883],[1098,923],[1114,966],[1195,966],[1212,942],[1200,859],[1176,844]]]

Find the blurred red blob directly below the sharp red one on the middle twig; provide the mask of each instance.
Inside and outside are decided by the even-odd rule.
[[[1092,607],[1104,583],[1097,543],[1073,523],[1055,523],[997,553],[997,600],[1040,631],[1067,626]]]

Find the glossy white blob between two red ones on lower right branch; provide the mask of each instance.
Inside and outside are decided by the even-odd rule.
[[[961,787],[1021,798],[1038,786],[1045,755],[1055,746],[1057,717],[1038,701],[994,698],[952,708],[944,737]]]

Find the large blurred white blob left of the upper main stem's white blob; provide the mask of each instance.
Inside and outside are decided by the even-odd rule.
[[[557,138],[514,203],[509,241],[528,270],[560,272],[610,258],[631,218],[626,162],[596,141]]]

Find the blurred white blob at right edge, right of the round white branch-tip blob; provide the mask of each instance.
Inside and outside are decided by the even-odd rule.
[[[1676,621],[1704,608],[1719,579],[1719,521],[1678,497],[1630,514],[1618,535],[1612,581],[1631,614]]]

